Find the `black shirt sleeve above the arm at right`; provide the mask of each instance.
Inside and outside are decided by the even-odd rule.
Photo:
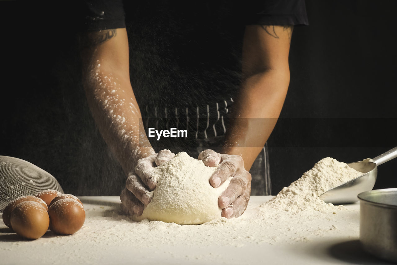
[[[308,25],[304,0],[252,1],[246,12],[247,25]]]

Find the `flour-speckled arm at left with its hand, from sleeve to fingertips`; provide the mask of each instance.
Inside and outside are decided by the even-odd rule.
[[[120,28],[83,33],[80,45],[89,107],[128,176],[120,196],[123,209],[128,213],[141,212],[150,201],[150,190],[156,187],[150,169],[156,160],[169,160],[170,154],[155,154],[145,132],[139,131],[142,119],[129,79],[127,32]]]

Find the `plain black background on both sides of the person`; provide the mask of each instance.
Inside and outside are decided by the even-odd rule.
[[[355,162],[397,145],[396,8],[306,0],[310,25],[294,29],[289,92],[268,140],[274,194],[326,156]],[[54,27],[56,10],[33,11],[0,1],[0,155],[36,164],[67,193],[119,195],[125,176],[85,102],[75,37]],[[375,188],[397,187],[396,167],[380,166]]]

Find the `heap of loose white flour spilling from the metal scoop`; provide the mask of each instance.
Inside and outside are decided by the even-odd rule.
[[[304,210],[333,212],[343,206],[324,203],[318,196],[346,181],[362,175],[346,163],[327,157],[317,162],[300,179],[284,187],[276,197],[262,205],[262,210],[284,210],[300,212]]]

